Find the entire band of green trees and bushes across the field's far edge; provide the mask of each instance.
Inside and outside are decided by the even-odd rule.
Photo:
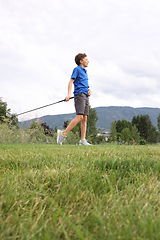
[[[7,108],[7,103],[3,102],[0,98],[0,124],[5,124],[3,130],[6,131],[8,128],[8,135],[11,135],[13,129],[17,131],[20,129],[18,124],[18,118],[15,114],[12,114],[11,119],[6,118],[5,112],[11,111]],[[89,107],[89,116],[87,119],[87,131],[86,138],[92,144],[100,144],[105,142],[104,136],[97,136],[101,129],[96,128],[96,123],[98,121],[97,112],[94,108]],[[64,122],[64,128],[67,127],[69,122]],[[1,126],[2,128],[2,126]],[[158,129],[157,129],[158,128]],[[118,142],[127,144],[146,144],[146,143],[157,143],[160,138],[160,114],[157,117],[157,128],[152,125],[149,115],[137,115],[132,118],[132,121],[118,120],[112,121],[110,127],[110,137],[108,142]],[[25,134],[28,134],[28,141],[30,142],[56,142],[56,127],[55,130],[49,128],[46,123],[33,122],[27,129],[23,129]],[[22,132],[20,132],[20,135]],[[2,129],[1,129],[2,132]],[[2,134],[2,133],[1,133]],[[15,133],[17,136],[17,133]],[[45,136],[44,136],[45,135]],[[81,135],[80,123],[74,127],[67,137],[67,144],[78,144]],[[3,134],[7,136],[7,134]],[[27,138],[27,136],[25,136]],[[51,140],[52,138],[52,140]],[[54,141],[53,141],[54,138]]]

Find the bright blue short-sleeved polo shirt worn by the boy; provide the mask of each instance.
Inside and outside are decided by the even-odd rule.
[[[85,68],[81,66],[74,68],[71,79],[74,79],[74,95],[79,93],[88,95],[88,75]]]

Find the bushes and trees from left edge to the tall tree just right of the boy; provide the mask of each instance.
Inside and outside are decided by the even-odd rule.
[[[28,128],[24,129],[19,126],[18,118],[16,114],[12,114],[11,118],[7,118],[5,112],[10,112],[11,110],[7,108],[7,103],[3,102],[0,98],[0,142],[14,142],[22,141],[22,142],[49,142],[56,143],[56,130],[51,129],[47,126],[46,123],[40,123],[38,121],[34,121]],[[101,137],[97,137],[97,133],[100,129],[96,128],[96,122],[98,120],[97,112],[94,108],[89,106],[90,114],[87,120],[87,129],[86,129],[86,137],[90,143],[96,144],[99,141],[102,141]],[[64,122],[64,128],[67,127],[69,122]],[[19,135],[19,137],[18,137]],[[72,129],[72,131],[68,134],[65,143],[66,144],[78,144],[81,135],[81,127],[78,124],[76,127]],[[20,137],[24,139],[20,140]],[[5,138],[5,139],[4,139]],[[7,140],[8,139],[8,140]],[[17,140],[16,140],[17,139]],[[25,140],[27,139],[27,140]]]

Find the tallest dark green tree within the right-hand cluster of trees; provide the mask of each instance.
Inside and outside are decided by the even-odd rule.
[[[146,115],[137,115],[132,118],[132,126],[136,126],[140,133],[140,137],[144,140],[147,140],[149,136],[149,130],[152,127],[152,122],[148,114]]]

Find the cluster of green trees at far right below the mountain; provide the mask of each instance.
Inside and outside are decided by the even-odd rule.
[[[148,114],[134,116],[132,121],[112,121],[110,127],[110,142],[128,144],[157,143],[160,137],[160,114],[157,117],[157,127],[152,125]]]

